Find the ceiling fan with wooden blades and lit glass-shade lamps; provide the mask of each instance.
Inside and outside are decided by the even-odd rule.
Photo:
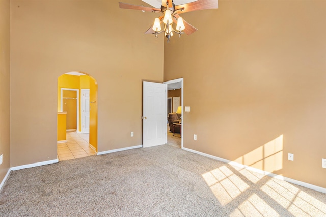
[[[145,0],[143,1],[147,2]],[[155,18],[154,24],[145,32],[145,34],[155,34],[155,37],[157,38],[158,34],[164,32],[169,43],[170,37],[173,36],[173,33],[179,34],[180,37],[183,33],[190,35],[197,31],[194,26],[183,20],[179,14],[204,9],[216,9],[218,8],[218,0],[197,0],[181,5],[175,5],[173,0],[162,0],[161,8],[151,8],[119,2],[119,7],[122,9],[134,9],[159,13],[160,16]],[[161,23],[164,24],[164,28],[162,28]],[[172,26],[173,23],[176,23],[175,28]]]

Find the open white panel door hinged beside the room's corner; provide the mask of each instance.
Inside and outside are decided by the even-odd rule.
[[[166,84],[143,82],[143,147],[167,143]]]

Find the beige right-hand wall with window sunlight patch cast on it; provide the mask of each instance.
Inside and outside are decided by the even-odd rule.
[[[326,187],[325,11],[326,1],[220,0],[184,14],[198,31],[171,38],[164,56],[164,80],[183,77],[191,107],[184,147]]]

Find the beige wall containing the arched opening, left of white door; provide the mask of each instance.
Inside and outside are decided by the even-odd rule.
[[[11,167],[57,159],[57,81],[70,71],[97,80],[98,151],[142,144],[142,80],[162,82],[163,38],[144,35],[155,14],[118,2],[11,1]]]

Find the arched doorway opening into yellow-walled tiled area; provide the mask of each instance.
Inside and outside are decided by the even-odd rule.
[[[58,78],[58,159],[97,153],[97,82],[87,73]]]

